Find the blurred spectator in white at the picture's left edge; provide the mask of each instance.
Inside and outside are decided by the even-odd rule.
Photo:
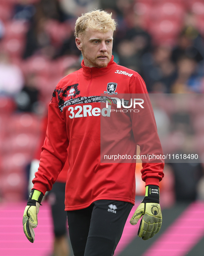
[[[16,95],[23,86],[21,69],[10,62],[6,52],[0,52],[0,94]]]

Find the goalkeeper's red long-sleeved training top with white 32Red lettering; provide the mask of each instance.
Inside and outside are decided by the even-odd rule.
[[[52,188],[68,148],[65,210],[83,209],[96,200],[134,204],[135,160],[104,159],[109,153],[136,155],[136,144],[143,156],[162,152],[145,83],[137,72],[117,65],[113,56],[106,68],[89,68],[84,61],[81,65],[81,69],[62,78],[53,93],[33,188],[43,194]],[[120,94],[128,104],[130,94],[138,94],[144,108],[136,105],[139,113],[119,108],[114,97],[120,98]],[[158,185],[163,168],[163,162],[143,162],[141,173],[146,185]]]

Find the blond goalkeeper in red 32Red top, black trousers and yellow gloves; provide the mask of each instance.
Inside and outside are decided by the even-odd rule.
[[[76,21],[75,42],[83,56],[82,68],[62,78],[54,90],[40,164],[23,214],[23,230],[33,242],[42,197],[51,190],[68,158],[65,211],[75,256],[114,255],[135,203],[136,163],[103,162],[104,150],[136,155],[139,145],[144,156],[163,155],[143,79],[136,71],[114,62],[115,29],[116,21],[103,10],[90,11]],[[144,100],[138,106],[139,113],[116,112],[118,104],[107,106],[101,94],[140,94]],[[104,143],[105,148],[101,147]],[[130,223],[134,225],[142,217],[138,235],[146,240],[162,224],[159,182],[164,163],[157,160],[142,165],[146,194]]]

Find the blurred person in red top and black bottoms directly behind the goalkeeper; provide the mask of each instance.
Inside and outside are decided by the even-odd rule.
[[[64,75],[68,75],[81,68],[79,63],[71,65],[65,69]],[[31,78],[31,85],[33,77]],[[35,79],[35,77],[34,77]],[[34,80],[35,81],[35,80]],[[39,159],[41,153],[41,147],[45,140],[45,133],[47,129],[48,116],[43,118],[41,127],[41,139],[39,140],[39,145],[36,148],[35,155],[31,161],[29,170],[29,181],[28,181],[28,191],[31,191],[33,184],[32,179],[35,177],[35,172],[39,167]],[[71,255],[72,249],[69,246],[69,238],[67,234],[67,213],[65,211],[65,185],[67,179],[67,170],[69,168],[69,162],[66,161],[64,168],[62,168],[55,184],[53,184],[51,191],[47,192],[48,203],[51,207],[52,221],[53,221],[53,254],[52,256],[69,256]]]

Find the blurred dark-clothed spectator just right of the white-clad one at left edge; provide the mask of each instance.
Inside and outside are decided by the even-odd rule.
[[[15,96],[18,111],[38,112],[40,91],[36,79],[36,74],[27,74],[22,90]]]

